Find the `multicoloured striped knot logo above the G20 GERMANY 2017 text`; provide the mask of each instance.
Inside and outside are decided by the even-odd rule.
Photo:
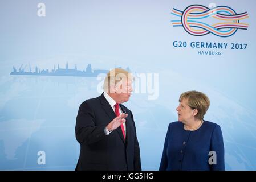
[[[183,27],[186,32],[194,36],[214,34],[220,37],[229,37],[237,30],[247,30],[249,24],[242,20],[249,18],[247,12],[237,13],[228,6],[216,6],[209,9],[202,5],[191,5],[184,11],[172,9],[173,27]]]

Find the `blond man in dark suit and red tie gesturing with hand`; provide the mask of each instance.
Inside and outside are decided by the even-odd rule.
[[[84,101],[76,118],[80,156],[76,170],[140,171],[140,148],[132,112],[121,103],[132,92],[131,73],[115,68],[104,93]]]

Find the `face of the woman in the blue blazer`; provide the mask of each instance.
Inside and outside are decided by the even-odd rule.
[[[176,110],[178,111],[178,121],[188,122],[194,119],[194,109],[189,107],[187,100],[182,100]]]

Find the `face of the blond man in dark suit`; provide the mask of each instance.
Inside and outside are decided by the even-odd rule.
[[[132,80],[120,81],[116,84],[115,94],[119,100],[119,103],[127,102],[132,95],[133,87]]]

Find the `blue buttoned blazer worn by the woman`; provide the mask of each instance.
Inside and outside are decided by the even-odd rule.
[[[216,152],[216,164],[209,164],[210,151]],[[221,127],[204,120],[198,130],[186,131],[182,122],[170,123],[159,170],[225,170]]]

